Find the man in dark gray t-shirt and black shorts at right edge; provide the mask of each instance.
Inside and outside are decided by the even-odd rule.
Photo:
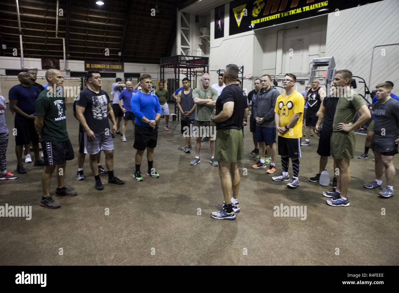
[[[379,83],[377,88],[378,101],[374,104],[374,135],[370,148],[375,157],[375,180],[365,184],[366,188],[382,189],[382,175],[385,168],[387,185],[378,194],[381,197],[393,197],[393,181],[395,167],[393,157],[398,153],[399,142],[399,101],[391,98],[392,85]]]

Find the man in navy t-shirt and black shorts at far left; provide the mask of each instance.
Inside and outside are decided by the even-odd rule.
[[[44,166],[44,162],[39,155],[39,136],[35,130],[35,102],[40,91],[37,87],[31,85],[31,79],[27,72],[18,74],[19,85],[15,85],[8,92],[10,108],[15,112],[14,126],[15,135],[15,153],[17,156],[17,172],[25,174],[27,171],[22,165],[22,151],[25,144],[32,142],[35,163],[34,166]]]

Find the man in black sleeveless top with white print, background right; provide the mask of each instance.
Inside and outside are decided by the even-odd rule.
[[[305,117],[305,141],[301,142],[301,146],[310,146],[310,130],[316,131],[316,123],[318,120],[316,113],[320,105],[323,104],[325,96],[326,92],[320,87],[319,80],[313,79],[312,88],[309,88],[305,94],[305,103],[308,108]]]

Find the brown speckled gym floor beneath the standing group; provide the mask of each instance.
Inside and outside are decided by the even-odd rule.
[[[69,138],[77,155],[78,122],[71,104],[67,109]],[[8,110],[6,121],[12,129]],[[78,195],[54,197],[61,208],[50,210],[39,206],[41,167],[25,164],[27,174],[0,181],[0,205],[32,206],[31,220],[0,218],[0,265],[399,264],[399,194],[381,199],[377,190],[363,187],[374,179],[373,155],[351,161],[350,206],[332,207],[321,194],[326,188],[308,181],[318,173],[316,138],[302,147],[300,186],[292,190],[272,181],[265,169],[251,169],[253,143],[246,127],[246,159],[239,164],[248,169],[241,176],[241,212],[234,221],[214,220],[209,213],[223,197],[217,167],[209,163],[209,143],[202,145],[201,163],[190,166],[194,151],[180,150],[184,145],[180,124],[170,122],[169,127],[170,131],[161,127],[155,150],[159,179],[144,175],[144,182],[137,182],[132,178],[135,151],[129,125],[127,142],[119,136],[114,139],[115,175],[125,185],[109,185],[105,174],[101,175],[105,188],[97,191],[88,160],[86,180],[77,181],[75,158],[67,163],[65,185]],[[357,155],[363,152],[364,140],[364,135],[356,135]],[[16,171],[14,146],[11,137],[7,158],[12,172]],[[105,166],[104,157],[101,162]],[[398,156],[395,165],[399,166]],[[143,160],[142,171],[146,167]],[[328,169],[332,173],[332,160]],[[395,180],[399,193],[397,184]],[[53,178],[53,193],[55,187]],[[306,206],[306,220],[275,217],[274,207],[280,205]],[[109,215],[105,215],[107,208]]]

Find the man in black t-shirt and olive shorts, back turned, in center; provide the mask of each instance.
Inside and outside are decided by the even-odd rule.
[[[238,192],[240,173],[237,161],[244,156],[244,139],[241,128],[246,125],[247,96],[236,80],[239,69],[235,64],[227,65],[223,81],[226,85],[216,100],[216,112],[212,122],[216,122],[215,161],[219,162],[224,202],[221,210],[211,212],[211,217],[218,220],[234,220],[234,212],[239,212]],[[231,196],[233,189],[233,196]]]

